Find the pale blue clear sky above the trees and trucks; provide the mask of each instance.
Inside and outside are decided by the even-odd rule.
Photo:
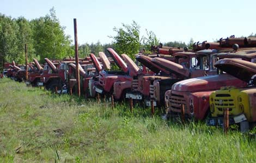
[[[74,40],[73,18],[77,18],[78,42],[108,43],[113,27],[135,20],[152,30],[161,42],[213,41],[230,35],[256,33],[256,1],[66,1],[0,0],[2,14],[29,20],[45,16],[54,7],[65,33]]]

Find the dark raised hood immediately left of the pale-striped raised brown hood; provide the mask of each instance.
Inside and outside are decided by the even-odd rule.
[[[157,66],[154,62],[151,61],[152,58],[145,56],[145,55],[138,55],[136,60],[141,62],[143,65],[148,67],[151,71],[155,73],[159,73],[160,71],[169,74],[169,71],[165,70],[164,68]]]

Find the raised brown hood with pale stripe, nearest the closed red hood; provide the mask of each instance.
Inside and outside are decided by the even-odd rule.
[[[153,61],[156,65],[163,67],[170,73],[182,75],[184,77],[190,76],[190,70],[182,65],[176,64],[175,62],[162,59],[162,58],[154,58]]]

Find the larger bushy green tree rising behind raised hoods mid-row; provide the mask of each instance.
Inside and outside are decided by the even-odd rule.
[[[117,33],[111,37],[113,41],[113,47],[119,54],[127,54],[130,58],[135,59],[135,55],[139,52],[141,47],[141,39],[139,37],[139,25],[133,21],[131,25],[122,24],[123,27],[114,27],[114,32]]]

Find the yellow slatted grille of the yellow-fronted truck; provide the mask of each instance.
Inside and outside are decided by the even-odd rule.
[[[228,108],[231,111],[235,108],[234,99],[229,94],[217,94],[214,98],[214,104],[219,111]]]

